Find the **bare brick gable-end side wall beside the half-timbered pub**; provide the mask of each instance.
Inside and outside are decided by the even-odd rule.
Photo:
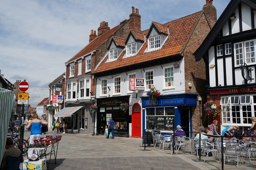
[[[193,131],[198,131],[200,125],[205,126],[203,122],[203,104],[206,102],[205,63],[203,59],[196,62],[193,53],[203,42],[209,31],[210,28],[206,17],[202,15],[184,50],[185,91],[186,93],[198,94],[198,97],[202,97],[202,101],[197,101],[197,107],[192,108]],[[192,83],[192,87],[188,87],[188,83]]]

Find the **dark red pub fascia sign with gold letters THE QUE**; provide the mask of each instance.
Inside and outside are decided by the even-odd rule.
[[[235,89],[211,90],[211,95],[234,94],[234,93],[256,93],[256,87],[242,87]]]

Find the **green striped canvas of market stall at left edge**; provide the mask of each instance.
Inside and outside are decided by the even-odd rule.
[[[4,156],[8,125],[15,99],[13,91],[0,88],[0,161]]]

